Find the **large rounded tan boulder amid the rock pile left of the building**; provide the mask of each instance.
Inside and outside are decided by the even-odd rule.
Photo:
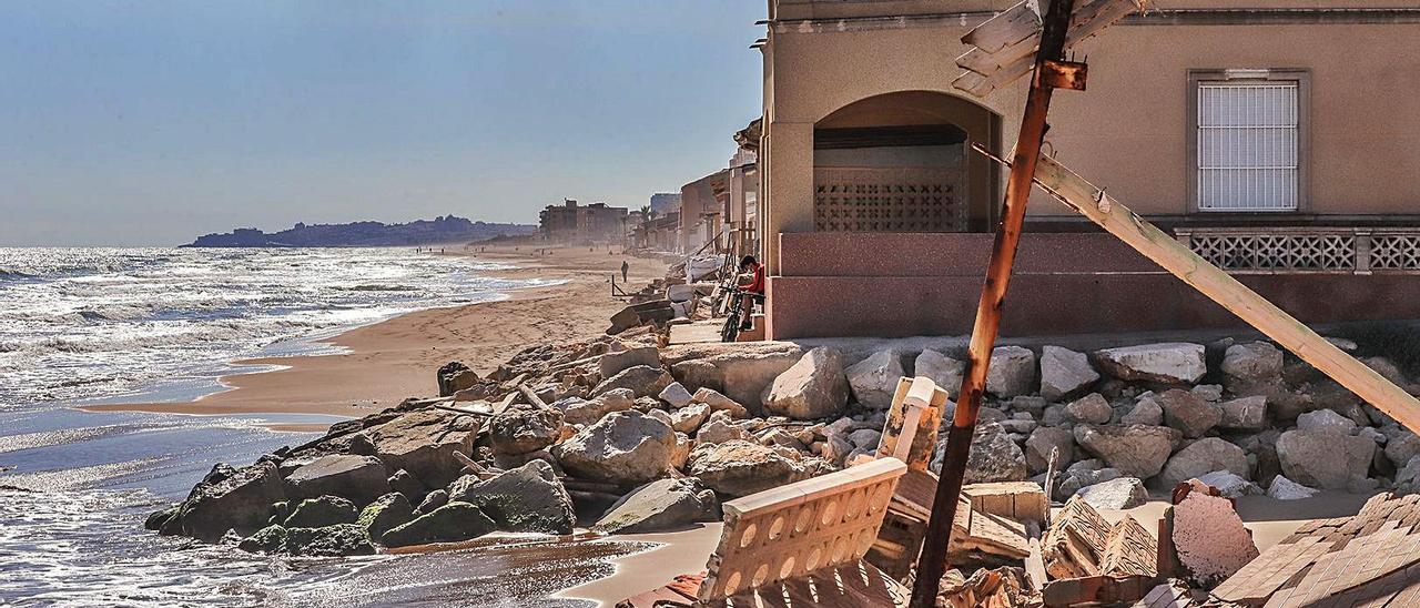
[[[602,418],[552,453],[572,476],[632,486],[665,474],[674,449],[670,425],[628,411]]]

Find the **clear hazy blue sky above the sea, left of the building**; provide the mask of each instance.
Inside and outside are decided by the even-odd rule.
[[[764,0],[6,0],[0,246],[535,223],[726,166]]]

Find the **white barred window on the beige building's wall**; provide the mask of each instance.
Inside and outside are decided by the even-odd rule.
[[[1298,82],[1198,84],[1198,209],[1295,210]]]

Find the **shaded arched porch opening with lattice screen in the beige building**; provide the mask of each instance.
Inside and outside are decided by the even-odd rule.
[[[967,99],[903,91],[845,105],[814,124],[814,230],[985,232],[1001,119]]]

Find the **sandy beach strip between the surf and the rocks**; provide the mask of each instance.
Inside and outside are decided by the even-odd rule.
[[[322,340],[344,348],[342,354],[239,361],[283,368],[224,376],[222,384],[227,391],[196,401],[87,409],[362,416],[408,396],[437,393],[435,369],[449,361],[463,361],[487,374],[528,345],[598,335],[608,318],[625,305],[623,300],[611,295],[609,286],[613,273],[619,278],[623,260],[630,264],[630,286],[643,286],[665,276],[666,270],[659,260],[622,256],[619,249],[608,253],[605,246],[595,250],[550,247],[545,254],[530,246],[487,246],[457,253],[447,247],[447,256],[517,266],[490,271],[490,276],[561,283],[514,290],[501,301],[409,313]]]

